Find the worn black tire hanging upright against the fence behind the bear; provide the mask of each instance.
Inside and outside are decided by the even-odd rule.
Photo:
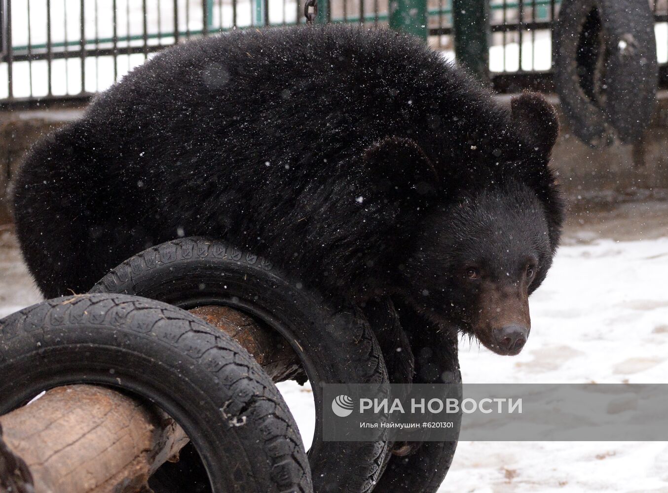
[[[552,31],[554,86],[570,127],[591,147],[640,138],[658,83],[647,0],[563,0]]]

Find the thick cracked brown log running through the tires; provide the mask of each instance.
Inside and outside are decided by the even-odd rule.
[[[300,376],[297,356],[267,326],[221,306],[191,312],[246,348],[275,382]],[[188,442],[181,427],[159,409],[90,385],[49,390],[0,416],[0,425],[9,450],[25,460],[36,493],[148,491],[150,474]],[[7,493],[4,479],[0,493]]]

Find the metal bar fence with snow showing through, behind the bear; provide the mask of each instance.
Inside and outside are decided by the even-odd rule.
[[[191,37],[304,23],[305,0],[0,0],[0,105],[85,99],[152,53]],[[320,0],[320,20],[387,25],[388,0]],[[454,57],[453,3],[427,0],[428,42]],[[464,0],[472,3],[475,0]],[[489,1],[496,89],[550,89],[551,26],[560,0]],[[667,0],[653,3],[659,61],[668,58]],[[475,33],[460,33],[470,36]]]

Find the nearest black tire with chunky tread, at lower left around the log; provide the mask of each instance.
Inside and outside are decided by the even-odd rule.
[[[86,294],[0,320],[0,414],[42,390],[102,384],[154,402],[198,450],[212,491],[311,492],[287,404],[231,338],[168,304]]]

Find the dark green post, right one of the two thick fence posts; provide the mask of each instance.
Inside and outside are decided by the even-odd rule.
[[[490,67],[489,0],[452,0],[457,61],[487,81]]]

